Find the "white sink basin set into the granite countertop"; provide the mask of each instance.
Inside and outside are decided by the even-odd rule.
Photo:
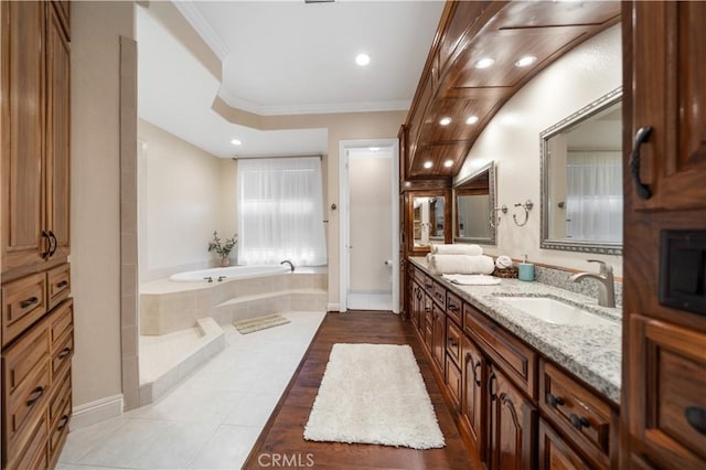
[[[614,325],[608,319],[552,297],[499,297],[499,300],[547,323],[571,327]]]

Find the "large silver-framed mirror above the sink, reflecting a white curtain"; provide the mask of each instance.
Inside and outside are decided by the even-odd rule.
[[[622,88],[539,135],[541,247],[622,254]]]

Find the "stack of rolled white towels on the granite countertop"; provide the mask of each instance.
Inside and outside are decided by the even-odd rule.
[[[431,245],[427,261],[429,271],[435,275],[490,275],[495,269],[493,258],[483,255],[479,245]]]

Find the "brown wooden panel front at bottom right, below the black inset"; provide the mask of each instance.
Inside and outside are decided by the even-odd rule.
[[[634,384],[631,432],[645,441],[657,467],[696,468],[706,460],[706,334],[633,317],[630,363],[644,368]],[[642,382],[644,381],[644,382]],[[654,391],[650,393],[649,391]],[[700,430],[700,431],[699,431]]]

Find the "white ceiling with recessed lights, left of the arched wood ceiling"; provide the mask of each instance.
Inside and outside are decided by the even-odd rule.
[[[327,129],[236,126],[211,109],[216,96],[259,115],[407,109],[443,2],[174,6],[221,58],[223,83],[138,7],[138,114],[217,157],[252,157],[327,153]],[[371,56],[366,67],[355,65],[360,52]]]

